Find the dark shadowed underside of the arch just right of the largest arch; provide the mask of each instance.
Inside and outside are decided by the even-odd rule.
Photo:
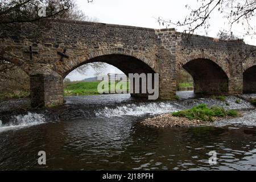
[[[216,61],[196,58],[185,63],[183,68],[193,77],[195,93],[228,93],[229,77]]]

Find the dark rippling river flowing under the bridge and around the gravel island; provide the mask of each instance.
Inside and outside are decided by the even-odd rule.
[[[185,99],[66,97],[66,104],[57,109],[6,115],[0,121],[0,169],[256,170],[256,111],[249,102],[237,104],[233,96],[222,102],[193,98],[191,92],[179,94]],[[201,103],[246,111],[241,118],[212,126],[138,125],[144,118]],[[46,152],[46,166],[38,164],[39,151]],[[215,165],[208,162],[210,151],[217,152]]]

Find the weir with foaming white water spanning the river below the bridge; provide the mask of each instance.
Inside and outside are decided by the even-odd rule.
[[[127,116],[135,116],[143,118],[144,115],[157,115],[165,113],[173,113],[175,111],[189,109],[199,104],[207,104],[208,106],[222,106],[225,109],[243,109],[243,116],[234,119],[228,119],[221,122],[214,122],[213,126],[225,125],[246,125],[256,126],[256,111],[250,110],[254,107],[245,100],[240,100],[238,97],[227,96],[226,101],[222,102],[213,98],[197,98],[181,101],[162,101],[162,102],[138,102],[130,101],[126,94],[113,94],[104,96],[79,96],[66,98],[69,103],[62,113],[44,112],[44,114],[28,112],[10,116],[9,121],[0,120],[0,132],[7,130],[15,130],[23,127],[40,125],[53,121],[53,116],[56,118],[62,117],[64,120],[72,120],[77,118],[109,118],[119,117],[125,119]],[[237,103],[237,100],[240,100]],[[73,103],[74,102],[74,103]],[[79,103],[78,106],[74,107]],[[61,110],[59,110],[61,111]],[[42,113],[42,112],[40,112]],[[48,119],[46,119],[48,118]],[[47,121],[46,121],[47,120]],[[61,120],[61,117],[60,117]],[[59,121],[57,119],[57,121]]]

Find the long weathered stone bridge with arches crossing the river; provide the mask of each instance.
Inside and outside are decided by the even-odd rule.
[[[183,36],[174,28],[59,20],[0,28],[0,59],[30,76],[31,105],[63,104],[63,78],[77,67],[105,62],[128,73],[159,73],[159,98],[174,98],[176,73],[193,77],[195,92],[256,92],[255,46],[242,40]],[[254,51],[254,52],[252,52]],[[135,96],[135,95],[134,95]]]

